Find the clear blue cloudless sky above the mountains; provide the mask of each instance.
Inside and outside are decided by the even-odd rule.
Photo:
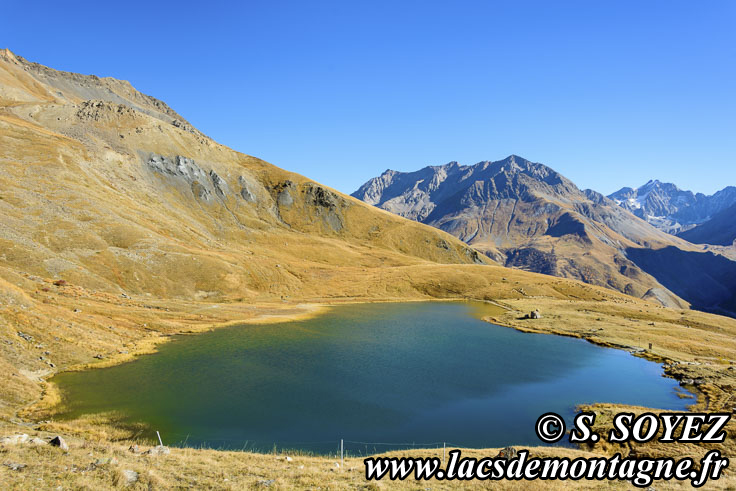
[[[581,188],[736,185],[736,2],[5,0],[0,47],[130,80],[344,192],[518,154]]]

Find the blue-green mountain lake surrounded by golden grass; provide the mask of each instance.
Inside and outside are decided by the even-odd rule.
[[[180,336],[134,362],[55,377],[64,418],[117,411],[167,444],[352,453],[383,443],[540,444],[534,422],[580,403],[683,409],[656,364],[524,334],[472,303],[361,304],[305,321]],[[354,442],[371,442],[370,444]]]

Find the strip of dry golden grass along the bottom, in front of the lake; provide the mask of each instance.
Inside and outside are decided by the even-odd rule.
[[[34,433],[33,431],[31,433]],[[39,433],[43,436],[44,433]],[[361,457],[253,454],[204,449],[171,449],[170,455],[147,456],[128,451],[128,445],[92,443],[72,438],[70,451],[54,447],[15,446],[0,449],[3,462],[26,462],[20,471],[0,466],[6,489],[631,489],[625,482],[483,482],[483,481],[371,481],[365,479]],[[145,449],[142,447],[141,449]],[[520,447],[527,448],[527,447]],[[527,448],[531,456],[583,457],[594,454],[564,448]],[[463,451],[463,457],[493,457],[498,449]],[[291,461],[286,457],[290,456]],[[442,449],[391,452],[386,456],[438,457]],[[95,465],[96,462],[105,462]],[[128,485],[123,472],[135,471],[138,481]],[[272,481],[272,482],[271,482]],[[270,483],[269,483],[270,482]],[[266,483],[269,483],[266,485]],[[733,489],[731,475],[709,482],[708,489]],[[653,488],[684,489],[687,484],[656,482]]]

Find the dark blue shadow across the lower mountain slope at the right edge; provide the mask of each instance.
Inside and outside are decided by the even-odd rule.
[[[626,249],[630,260],[698,310],[736,317],[736,262],[712,252]]]

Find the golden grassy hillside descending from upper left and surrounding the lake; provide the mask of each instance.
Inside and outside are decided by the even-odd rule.
[[[68,458],[3,448],[4,460],[28,465],[0,466],[0,480],[19,489],[30,476],[40,488],[122,486],[131,467],[144,476],[139,487],[269,479],[281,465],[270,456],[244,460],[253,466],[243,481],[228,477],[245,472],[230,453],[133,462],[121,429],[54,421],[58,395],[45,380],[130,360],[173,334],[314,315],[338,302],[473,298],[505,306],[489,320],[520,329],[611,346],[651,340],[647,356],[683,362],[673,376],[703,380],[700,404],[732,404],[734,320],[503,268],[445,232],[221,146],[127,82],[56,72],[8,51],[0,224],[0,433],[59,433],[71,443]],[[534,308],[543,320],[521,320]],[[78,472],[90,453],[119,463]],[[317,477],[292,470],[278,485],[361,484],[359,473],[326,477],[325,463],[310,458]]]

